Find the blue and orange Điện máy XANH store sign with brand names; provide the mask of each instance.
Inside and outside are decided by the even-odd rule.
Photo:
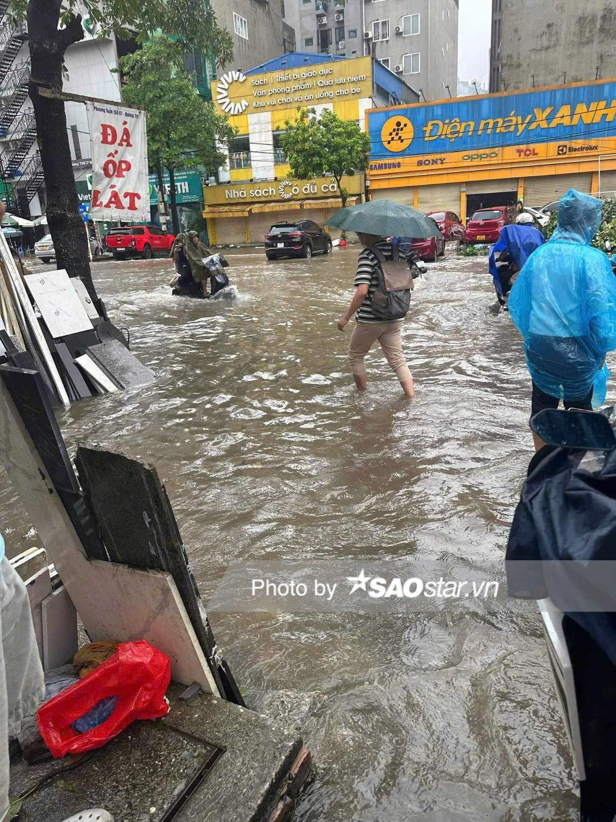
[[[370,172],[585,159],[614,148],[614,118],[616,81],[375,109]]]

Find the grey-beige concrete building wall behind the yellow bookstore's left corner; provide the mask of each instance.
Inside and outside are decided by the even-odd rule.
[[[292,0],[287,0],[291,3]],[[218,24],[231,32],[234,58],[223,72],[234,68],[249,69],[283,53],[283,16],[281,0],[210,0]],[[248,26],[248,39],[237,35],[233,28],[233,12],[243,17]],[[288,21],[287,21],[288,22]],[[292,23],[290,23],[292,25]]]

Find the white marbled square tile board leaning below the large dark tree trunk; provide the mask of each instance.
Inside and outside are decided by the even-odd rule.
[[[24,279],[53,339],[92,330],[90,317],[65,269],[28,274]]]

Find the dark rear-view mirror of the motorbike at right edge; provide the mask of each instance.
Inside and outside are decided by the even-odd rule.
[[[616,435],[602,413],[545,409],[531,418],[531,430],[549,446],[592,451],[616,448]]]

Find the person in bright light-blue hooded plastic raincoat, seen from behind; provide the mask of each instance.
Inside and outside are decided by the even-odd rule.
[[[531,416],[561,399],[566,409],[590,411],[594,389],[605,399],[605,354],[616,349],[616,278],[607,256],[591,247],[600,222],[600,200],[565,194],[558,228],[509,293],[532,378]],[[544,443],[533,438],[539,450]]]

